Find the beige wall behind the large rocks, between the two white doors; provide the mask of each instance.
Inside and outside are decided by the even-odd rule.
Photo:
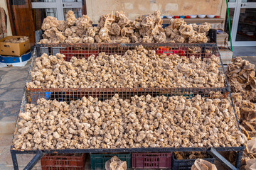
[[[124,11],[134,19],[160,10],[164,16],[213,14],[222,15],[225,0],[86,0],[87,16],[97,23],[102,14]]]

